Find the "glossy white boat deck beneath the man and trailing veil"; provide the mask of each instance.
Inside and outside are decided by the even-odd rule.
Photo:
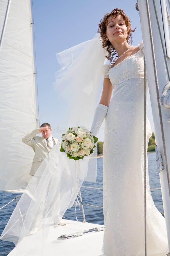
[[[58,240],[60,235],[71,234],[75,232],[80,232],[83,230],[88,230],[91,228],[101,228],[103,225],[92,224],[92,223],[77,223],[73,220],[65,220],[67,225],[65,226],[50,226],[48,238],[44,248],[43,256],[101,256],[103,234],[104,231],[100,232],[90,232],[83,234],[82,236],[76,238],[69,238],[66,240]],[[31,236],[27,236],[21,243],[23,248],[26,244],[31,246],[35,244],[36,237],[39,236],[39,231]],[[9,256],[16,256],[15,248],[8,254]],[[30,253],[30,255],[34,255]],[[23,256],[18,255],[17,256]],[[29,256],[29,254],[27,254]]]

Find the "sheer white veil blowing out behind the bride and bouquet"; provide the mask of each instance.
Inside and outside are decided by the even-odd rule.
[[[102,89],[100,79],[105,54],[99,34],[57,54],[62,67],[56,73],[55,83],[56,102],[60,102],[58,111],[62,112],[61,115],[56,113],[61,136],[69,127],[91,128]],[[43,250],[52,220],[55,218],[58,224],[57,216],[62,217],[72,207],[84,180],[95,181],[96,156],[97,150],[83,160],[74,161],[60,152],[60,141],[52,148],[26,187],[27,193],[23,193],[1,235],[2,240],[17,245],[16,255],[42,255],[40,248]],[[30,244],[29,233],[35,228],[37,219],[42,219],[42,229]]]

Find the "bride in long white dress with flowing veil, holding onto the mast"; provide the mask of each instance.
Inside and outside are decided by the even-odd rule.
[[[62,69],[56,74],[56,86],[63,97],[62,125],[68,129],[81,124],[91,127],[92,124],[92,134],[95,135],[105,119],[103,253],[105,256],[143,256],[143,43],[137,47],[129,45],[132,33],[130,19],[120,9],[114,9],[104,16],[99,24],[99,32],[101,42],[99,36],[96,36],[58,54]],[[96,108],[106,50],[106,57],[111,65],[104,65],[103,92]],[[148,87],[146,91],[148,92]],[[146,132],[148,143],[151,135],[148,121]],[[73,165],[73,160],[65,158],[63,152],[60,152],[60,143],[53,147],[28,184],[1,235],[1,239],[17,244],[17,255],[30,255],[33,252],[36,252],[35,255],[41,255],[37,248],[43,249],[42,241],[44,244],[47,238],[50,217],[57,207],[60,208],[59,214],[63,216],[65,210],[73,205],[85,178],[94,181],[94,160],[89,159],[90,164],[87,159],[78,160],[75,161],[78,163]],[[35,187],[36,176],[41,176],[38,187]],[[59,205],[53,204],[58,195]],[[34,227],[44,196],[46,200],[43,228],[31,247],[28,243],[20,247],[20,241],[28,236]],[[154,206],[147,173],[147,255],[165,255],[167,250],[165,221]]]

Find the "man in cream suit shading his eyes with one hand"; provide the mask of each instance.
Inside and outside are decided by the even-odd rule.
[[[32,176],[34,176],[37,169],[39,168],[43,160],[46,158],[50,150],[52,150],[53,146],[58,142],[58,139],[52,137],[51,132],[52,132],[51,125],[49,123],[43,123],[40,126],[40,128],[30,131],[22,138],[22,142],[24,142],[28,146],[31,146],[31,148],[35,152],[31,170],[29,173]],[[42,133],[42,137],[37,136],[38,133]],[[38,185],[38,182],[39,180],[37,177],[37,185]],[[41,228],[41,224],[39,223],[39,220],[37,220],[37,222],[38,223],[36,226],[39,226]],[[64,222],[61,219],[59,221],[59,225],[66,225],[66,222]]]

